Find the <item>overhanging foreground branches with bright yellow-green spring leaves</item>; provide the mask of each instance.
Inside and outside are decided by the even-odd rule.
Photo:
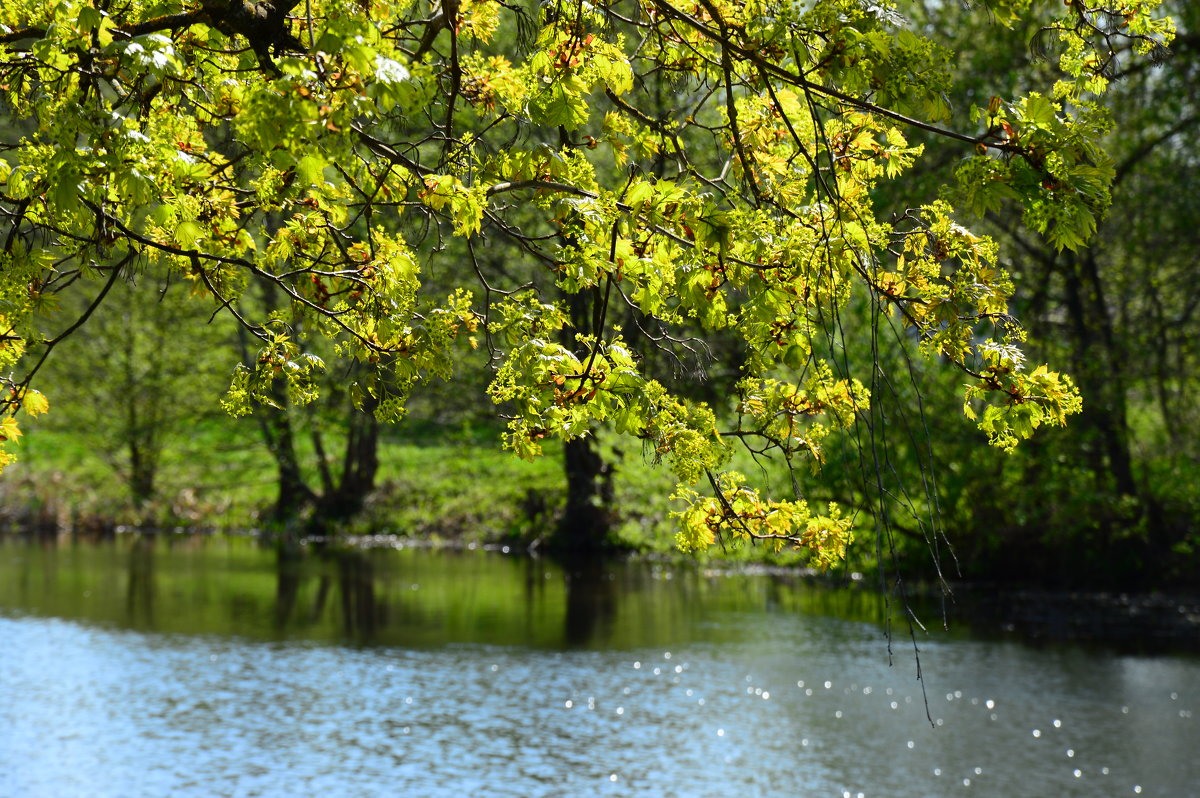
[[[683,548],[730,535],[827,565],[852,520],[761,496],[726,463],[733,443],[820,463],[871,422],[875,361],[840,337],[852,298],[868,335],[906,328],[962,373],[995,445],[1080,408],[1067,377],[1026,366],[995,244],[947,200],[886,218],[876,192],[922,134],[964,157],[964,210],[1019,204],[1078,250],[1112,179],[1092,98],[1111,52],[1169,41],[1157,5],[1067,2],[1039,31],[1052,79],[955,116],[953,53],[866,0],[7,2],[0,91],[28,132],[0,145],[0,366],[61,338],[40,326],[56,292],[98,302],[89,277],[152,262],[258,338],[234,413],[314,397],[324,364],[298,325],[365,364],[348,391],[380,420],[482,346],[517,455],[604,425],[679,480]],[[982,13],[1015,24],[1030,6]],[[448,296],[422,288],[439,268]],[[290,306],[242,316],[256,283]],[[695,330],[740,342],[724,404],[636,354],[678,354]],[[7,378],[10,438],[44,409],[28,377]]]

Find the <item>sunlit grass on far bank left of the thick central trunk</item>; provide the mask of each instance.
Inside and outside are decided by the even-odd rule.
[[[121,479],[120,457],[103,454],[108,445],[89,442],[86,432],[28,425],[19,461],[0,480],[0,500],[10,516],[52,523],[257,528],[276,500],[276,470],[254,424],[215,418],[176,436],[162,455],[158,496],[142,508]],[[551,510],[562,503],[553,454],[524,463],[498,443],[476,442],[474,432],[440,442],[427,427],[406,432],[406,425],[389,428],[382,440],[379,490],[348,532],[498,539],[536,521],[522,516],[530,493]],[[337,452],[336,443],[326,450]],[[296,445],[316,485],[308,437],[298,436]]]

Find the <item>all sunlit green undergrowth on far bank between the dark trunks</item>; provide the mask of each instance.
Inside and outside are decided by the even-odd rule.
[[[140,506],[121,479],[120,455],[106,456],[103,446],[89,444],[88,434],[78,430],[30,425],[20,460],[0,478],[0,520],[8,526],[59,528],[280,532],[268,520],[276,500],[276,470],[256,424],[214,416],[172,438],[162,454],[156,497]],[[298,436],[296,443],[305,476],[316,484],[307,436]],[[652,452],[601,449],[613,474],[613,546],[685,557],[674,547],[671,511],[677,504],[667,469],[654,462]],[[379,462],[377,490],[336,534],[530,546],[556,529],[565,503],[559,446],[547,446],[545,456],[524,462],[503,451],[498,434],[487,427],[421,421],[389,427]],[[737,464],[760,481],[775,481],[749,458]],[[733,545],[700,559],[800,562],[786,551]]]

